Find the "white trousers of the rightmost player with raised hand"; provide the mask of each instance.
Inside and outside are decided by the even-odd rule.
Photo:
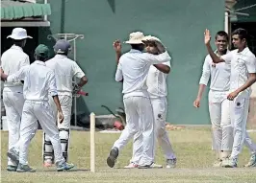
[[[246,132],[249,99],[238,96],[231,102],[230,107],[231,123],[234,126],[234,144],[231,158],[238,159],[243,149],[243,143],[250,149],[251,153],[256,153],[256,145],[251,141]]]

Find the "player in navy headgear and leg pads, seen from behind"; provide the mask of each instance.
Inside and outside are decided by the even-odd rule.
[[[58,124],[60,131],[60,138],[62,143],[62,150],[64,159],[68,159],[68,147],[70,142],[70,120],[71,120],[71,107],[72,107],[72,92],[74,77],[80,81],[76,84],[78,88],[84,86],[88,79],[85,73],[77,65],[77,63],[67,57],[71,46],[68,41],[60,39],[54,46],[56,56],[45,62],[46,66],[51,68],[56,77],[57,92],[64,113],[64,122]],[[76,88],[76,89],[78,89]],[[49,103],[54,111],[54,116],[57,117],[57,108],[52,98],[49,98]],[[54,152],[49,137],[44,135],[43,138],[43,161],[44,166],[49,167],[54,163]]]

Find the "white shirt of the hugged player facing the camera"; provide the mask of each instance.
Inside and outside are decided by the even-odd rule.
[[[170,67],[170,61],[164,62]],[[154,65],[151,65],[148,71],[148,76],[146,80],[147,91],[150,98],[159,98],[167,96],[167,84],[166,84],[167,74],[159,71]]]

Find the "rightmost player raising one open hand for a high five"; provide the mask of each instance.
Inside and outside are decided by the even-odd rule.
[[[247,33],[244,29],[240,28],[232,33],[232,43],[237,49],[221,57],[212,50],[210,31],[206,30],[204,34],[205,45],[213,62],[231,64],[230,93],[227,99],[231,101],[230,117],[234,127],[234,143],[230,158],[223,161],[222,166],[235,168],[246,136],[250,86],[256,81],[256,57],[247,47]],[[256,165],[256,151],[251,154],[249,164],[249,166]]]

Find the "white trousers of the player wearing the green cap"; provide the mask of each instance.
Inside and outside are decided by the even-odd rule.
[[[28,148],[33,132],[38,128],[38,122],[42,130],[49,136],[55,155],[56,164],[64,163],[59,130],[56,119],[48,102],[25,101],[22,111],[20,126],[20,151],[19,163],[28,164]]]

